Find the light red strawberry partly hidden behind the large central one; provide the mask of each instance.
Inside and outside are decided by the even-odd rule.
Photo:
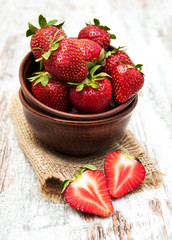
[[[89,39],[77,38],[74,38],[73,42],[80,48],[88,67],[93,67],[96,64],[104,64],[105,51],[99,44]]]

